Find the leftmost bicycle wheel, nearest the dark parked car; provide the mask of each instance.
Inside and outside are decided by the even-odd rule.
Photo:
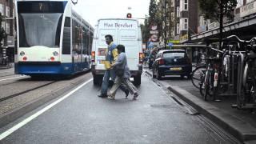
[[[202,78],[204,78],[205,73],[206,66],[198,66],[192,71],[191,82],[196,88],[200,89],[200,83],[202,82]]]

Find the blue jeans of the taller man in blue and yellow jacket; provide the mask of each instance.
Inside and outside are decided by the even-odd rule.
[[[107,88],[109,87],[109,82],[110,82],[110,77],[112,79],[112,81],[114,82],[114,78],[115,78],[115,74],[114,74],[114,70],[106,70],[103,80],[102,80],[102,90],[101,90],[101,94],[107,94]],[[129,91],[126,86],[124,86],[123,84],[120,86],[120,89],[122,91]]]

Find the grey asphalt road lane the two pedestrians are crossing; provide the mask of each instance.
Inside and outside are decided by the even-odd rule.
[[[234,143],[209,120],[190,115],[146,74],[136,101],[121,91],[115,100],[98,98],[99,90],[90,81],[31,121],[26,118],[50,103],[26,114],[0,130],[1,138],[28,121],[0,143]]]

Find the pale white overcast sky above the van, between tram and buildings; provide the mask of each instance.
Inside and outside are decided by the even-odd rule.
[[[150,0],[78,0],[75,9],[91,26],[95,26],[99,18],[126,18],[127,13],[133,18],[145,18],[149,6]]]

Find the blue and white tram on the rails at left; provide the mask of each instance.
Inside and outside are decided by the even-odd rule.
[[[16,0],[15,74],[76,74],[90,69],[94,29],[70,0]]]

